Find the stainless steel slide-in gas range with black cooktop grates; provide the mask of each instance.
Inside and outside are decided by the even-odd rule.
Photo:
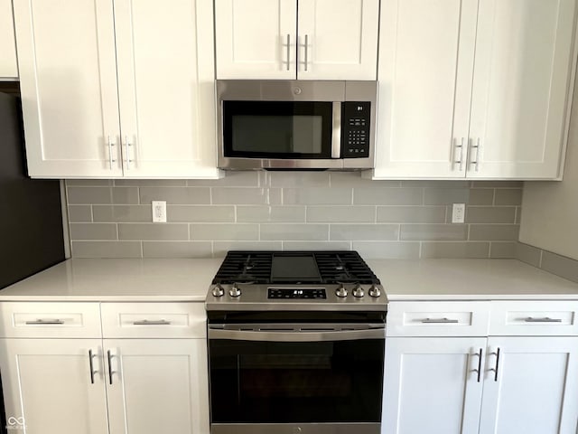
[[[387,298],[356,251],[229,251],[207,296],[211,434],[378,434]]]

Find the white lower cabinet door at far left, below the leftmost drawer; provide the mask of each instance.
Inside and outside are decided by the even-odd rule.
[[[7,427],[27,434],[107,434],[100,339],[2,339]],[[93,352],[91,382],[89,351]],[[22,431],[20,429],[23,429]]]

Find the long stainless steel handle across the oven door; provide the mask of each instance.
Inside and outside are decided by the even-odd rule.
[[[284,332],[258,330],[222,330],[209,329],[209,339],[228,339],[232,341],[268,341],[268,342],[331,342],[357,341],[359,339],[385,339],[385,328],[365,330],[336,330],[323,332]]]

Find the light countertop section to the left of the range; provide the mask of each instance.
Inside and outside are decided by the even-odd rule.
[[[0,301],[204,301],[222,259],[68,259]]]

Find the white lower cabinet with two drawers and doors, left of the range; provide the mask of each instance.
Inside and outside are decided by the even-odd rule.
[[[209,434],[206,331],[197,326],[202,304],[140,303],[135,313],[136,305],[3,303],[0,372],[9,432]],[[99,307],[116,313],[102,316],[102,328]],[[56,337],[72,333],[76,316],[83,337]],[[126,335],[116,333],[117,318]],[[95,322],[98,328],[88,326]]]

